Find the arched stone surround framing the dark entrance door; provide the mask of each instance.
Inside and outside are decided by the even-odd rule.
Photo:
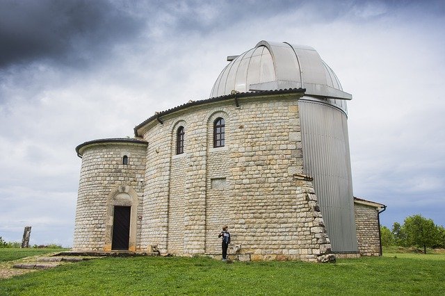
[[[115,211],[129,208],[129,247],[136,251],[136,223],[138,219],[138,195],[130,186],[118,186],[111,190],[106,201],[106,227],[104,251],[111,251],[113,247],[113,221]],[[117,234],[117,233],[116,233]]]

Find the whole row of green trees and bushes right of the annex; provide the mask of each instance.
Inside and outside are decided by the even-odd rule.
[[[380,227],[382,246],[445,248],[445,228],[422,215],[405,218],[403,225],[394,222],[392,229]]]

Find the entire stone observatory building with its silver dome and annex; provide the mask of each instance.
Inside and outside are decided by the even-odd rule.
[[[74,251],[216,256],[227,224],[238,260],[378,255],[382,205],[354,205],[352,96],[332,69],[286,42],[227,60],[209,99],[76,147]]]

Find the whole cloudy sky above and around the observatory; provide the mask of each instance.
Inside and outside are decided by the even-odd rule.
[[[72,245],[88,140],[209,98],[227,56],[314,47],[348,102],[354,195],[445,225],[444,1],[0,0],[0,236]]]

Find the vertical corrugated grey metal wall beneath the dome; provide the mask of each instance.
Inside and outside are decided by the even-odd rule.
[[[303,170],[314,177],[332,251],[357,252],[346,114],[329,101],[305,101],[305,97],[298,107]]]

